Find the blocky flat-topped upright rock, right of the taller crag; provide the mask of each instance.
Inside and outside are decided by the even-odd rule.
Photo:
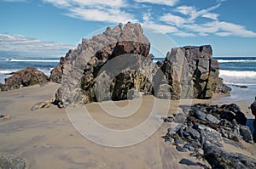
[[[161,66],[171,99],[209,99],[218,85],[218,61],[212,47],[172,48]]]

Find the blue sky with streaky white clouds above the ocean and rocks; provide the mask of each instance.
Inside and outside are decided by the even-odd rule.
[[[62,56],[91,32],[127,21],[177,46],[256,56],[255,7],[255,0],[0,0],[0,56]]]

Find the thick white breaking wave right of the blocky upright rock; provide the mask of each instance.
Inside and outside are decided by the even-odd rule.
[[[255,77],[256,71],[234,71],[234,70],[219,70],[219,76],[233,76],[233,77]]]

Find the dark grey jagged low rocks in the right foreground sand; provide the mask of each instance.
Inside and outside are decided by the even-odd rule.
[[[253,144],[252,133],[245,126],[247,119],[236,104],[195,104],[181,108],[183,112],[164,118],[166,122],[177,122],[183,116],[183,121],[179,121],[176,127],[168,128],[164,137],[166,142],[175,144],[178,151],[201,156],[212,168],[256,167],[254,159],[223,149],[223,143],[237,149],[245,149],[241,141]]]

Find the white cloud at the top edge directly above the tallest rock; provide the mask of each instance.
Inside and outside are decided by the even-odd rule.
[[[80,20],[102,21],[109,23],[137,22],[134,15],[121,8],[127,6],[125,0],[43,0],[58,8],[66,8],[67,16]]]

